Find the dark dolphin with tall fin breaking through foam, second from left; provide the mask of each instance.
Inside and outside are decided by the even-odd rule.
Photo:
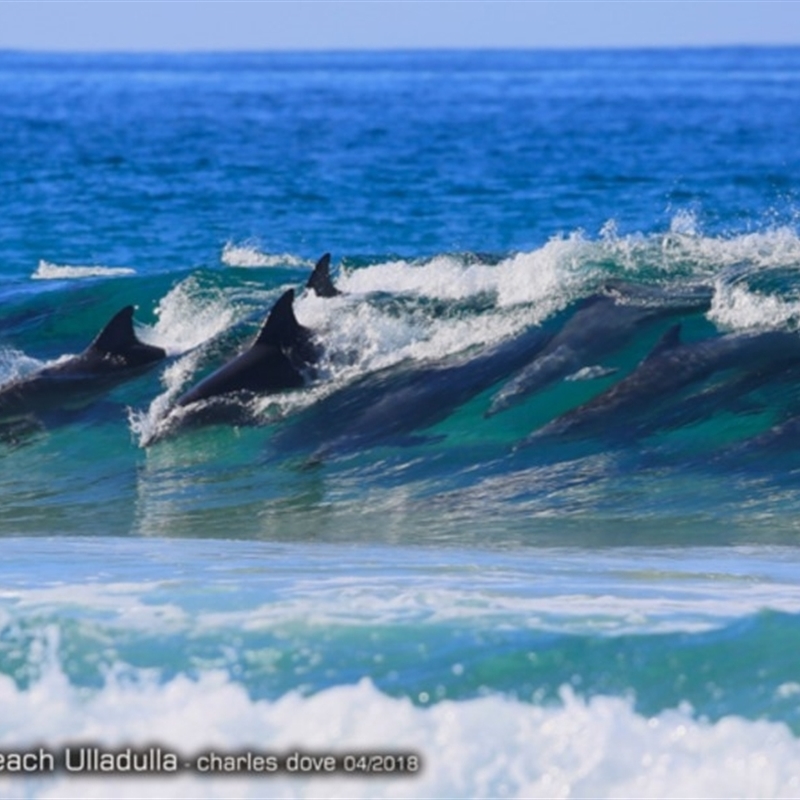
[[[253,343],[178,398],[178,406],[234,392],[269,393],[303,386],[303,370],[316,363],[313,334],[294,315],[294,289],[272,307]]]

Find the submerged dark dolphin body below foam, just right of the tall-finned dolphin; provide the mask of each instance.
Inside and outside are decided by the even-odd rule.
[[[388,367],[334,392],[273,438],[278,450],[315,448],[312,462],[407,441],[409,434],[448,417],[475,395],[519,369],[551,333],[530,328],[480,352],[419,368]]]

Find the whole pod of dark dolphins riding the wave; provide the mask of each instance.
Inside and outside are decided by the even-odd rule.
[[[330,277],[330,254],[319,259],[305,288],[322,298],[341,294]],[[666,318],[706,311],[711,294],[708,286],[668,291],[608,281],[545,324],[529,326],[499,344],[423,364],[403,362],[335,389],[288,417],[273,435],[273,445],[277,452],[310,453],[307,463],[313,464],[381,444],[418,442],[417,432],[424,434],[491,390],[495,393],[484,416],[493,417],[523,401],[530,404],[531,395],[576,373],[608,375],[608,369],[597,366],[606,356],[624,352],[640,331]],[[200,424],[263,424],[248,411],[249,398],[300,389],[316,380],[325,343],[298,322],[294,299],[294,289],[285,291],[248,346],[173,402],[166,411],[169,421],[194,417]],[[0,423],[91,403],[165,358],[162,348],[139,341],[133,306],[126,306],[79,355],[0,386]],[[718,373],[734,378],[708,388],[709,378]],[[761,402],[759,387],[776,375],[781,381],[796,381],[800,375],[797,333],[766,330],[683,342],[680,324],[672,325],[629,374],[588,401],[549,421],[547,409],[530,406],[544,424],[515,449],[548,440],[634,439],[691,424],[720,409],[741,413],[744,403]],[[701,391],[687,396],[687,390],[704,382]],[[567,386],[563,396],[574,396]],[[787,413],[787,422],[753,437],[753,445],[800,430],[800,417],[792,416],[797,409]],[[174,432],[169,425],[164,430]]]

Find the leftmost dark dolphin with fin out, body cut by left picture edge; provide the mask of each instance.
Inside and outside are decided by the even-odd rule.
[[[126,306],[79,355],[0,386],[0,419],[85,405],[165,357],[162,348],[139,341],[133,330],[133,306]]]

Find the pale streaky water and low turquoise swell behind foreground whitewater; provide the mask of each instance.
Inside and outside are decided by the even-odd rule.
[[[569,683],[586,702],[635,698],[640,715],[688,701],[695,718],[800,731],[791,548],[459,555],[163,530],[4,540],[15,580],[0,596],[0,674],[22,692],[55,672],[80,693],[110,675],[164,684],[210,670],[269,702],[368,677],[421,707],[490,693],[547,705]]]

